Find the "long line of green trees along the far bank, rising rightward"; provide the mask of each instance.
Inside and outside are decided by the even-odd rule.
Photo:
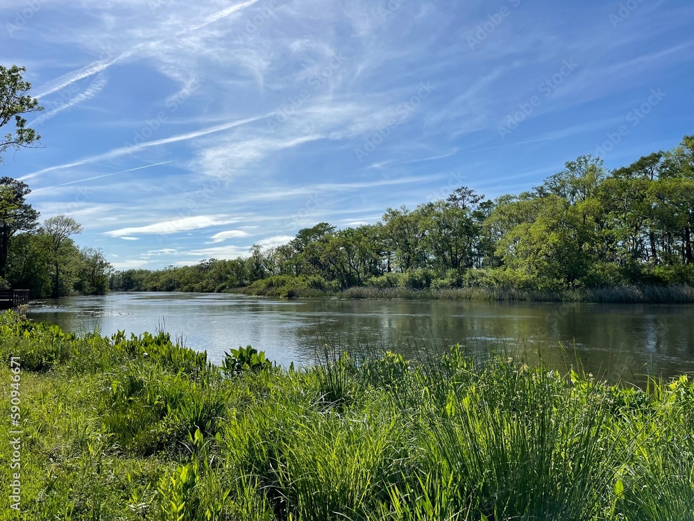
[[[608,171],[581,156],[518,195],[461,187],[376,224],[321,222],[247,257],[127,270],[119,291],[490,286],[565,290],[694,285],[694,136]]]

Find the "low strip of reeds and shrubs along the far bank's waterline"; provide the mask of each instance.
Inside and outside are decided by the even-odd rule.
[[[694,288],[678,286],[621,286],[561,291],[532,291],[518,288],[374,288],[362,286],[346,290],[307,288],[291,283],[255,284],[226,292],[282,298],[403,299],[403,300],[477,300],[521,302],[583,302],[595,304],[694,304]]]

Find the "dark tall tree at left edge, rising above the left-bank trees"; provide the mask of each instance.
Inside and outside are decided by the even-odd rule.
[[[17,231],[33,231],[39,213],[24,201],[31,192],[26,183],[9,177],[0,178],[0,277],[7,272],[10,237]]]

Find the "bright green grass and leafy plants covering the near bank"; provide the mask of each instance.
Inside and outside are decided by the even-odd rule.
[[[608,386],[459,347],[303,368],[253,354],[223,370],[162,332],[0,315],[3,417],[23,364],[22,512],[5,493],[0,520],[694,518],[687,377]]]

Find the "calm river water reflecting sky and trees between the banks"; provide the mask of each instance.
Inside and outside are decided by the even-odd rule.
[[[312,363],[323,345],[409,358],[460,342],[471,352],[538,353],[563,369],[577,356],[593,374],[694,372],[694,306],[459,301],[273,300],[239,295],[130,293],[40,301],[29,317],[69,331],[140,334],[164,328],[219,363],[253,345],[282,365]],[[375,349],[375,353],[373,350]],[[371,350],[370,353],[366,353]]]

